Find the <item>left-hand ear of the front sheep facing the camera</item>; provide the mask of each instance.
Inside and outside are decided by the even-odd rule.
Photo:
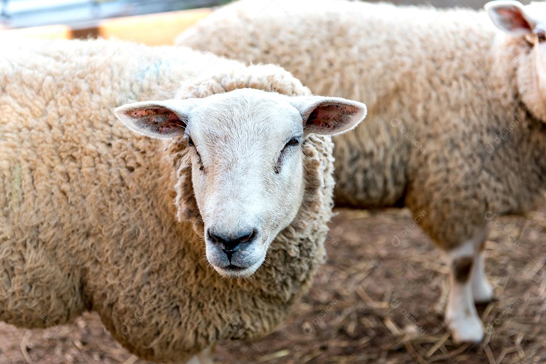
[[[142,101],[116,107],[114,113],[127,128],[155,138],[182,135],[195,99]]]

